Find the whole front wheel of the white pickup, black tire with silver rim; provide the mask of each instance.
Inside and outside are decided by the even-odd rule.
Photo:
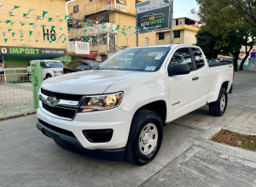
[[[154,111],[140,110],[131,122],[125,160],[146,165],[158,154],[163,139],[163,122]]]

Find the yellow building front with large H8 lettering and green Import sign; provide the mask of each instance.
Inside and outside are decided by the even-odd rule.
[[[5,68],[26,67],[32,59],[70,60],[63,42],[68,37],[66,2],[1,1],[0,60]]]

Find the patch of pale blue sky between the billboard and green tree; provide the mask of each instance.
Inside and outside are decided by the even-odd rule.
[[[192,8],[199,9],[195,0],[173,0],[173,2],[173,18],[188,17],[190,19],[198,20],[196,15],[190,13]]]

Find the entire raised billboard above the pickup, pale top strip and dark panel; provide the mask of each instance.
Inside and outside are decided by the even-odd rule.
[[[159,0],[137,3],[137,27],[143,31],[169,29],[169,4]]]

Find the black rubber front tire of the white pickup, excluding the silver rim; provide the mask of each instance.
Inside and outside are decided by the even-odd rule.
[[[154,126],[157,127],[158,139],[156,140],[154,149],[151,150],[152,152],[148,155],[143,155],[139,148],[139,139],[148,124],[154,124]],[[163,133],[163,122],[157,113],[148,110],[137,111],[131,122],[131,130],[125,149],[125,160],[137,164],[138,166],[146,165],[148,162],[152,161],[160,150]]]

